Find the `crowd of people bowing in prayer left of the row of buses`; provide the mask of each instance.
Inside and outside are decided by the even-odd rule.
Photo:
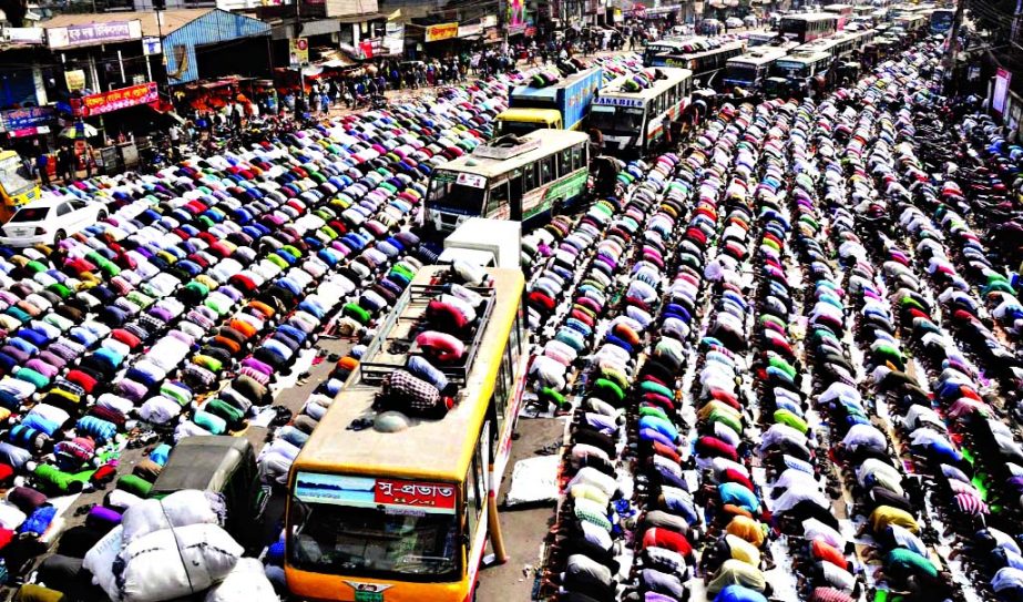
[[[311,364],[324,333],[368,336],[395,304],[430,257],[409,225],[428,174],[490,135],[520,76],[265,132],[246,150],[152,175],[47,188],[104,207],[53,244],[0,248],[0,575],[21,580],[42,560],[19,600],[155,602],[206,589],[228,561],[263,571],[233,541],[216,543],[217,577],[178,567],[173,543],[151,550],[170,552],[164,564],[147,564],[108,542],[120,541],[122,518],[142,507],[183,438],[241,435],[269,416],[259,478],[284,484],[365,347],[337,360],[300,411],[275,405],[276,394]],[[119,465],[132,448],[143,458]],[[93,503],[72,504],[68,516],[84,522],[65,528],[58,499],[82,491]],[[239,541],[262,532],[232,511],[226,520],[245,526],[232,533]],[[265,573],[284,593],[282,545],[270,548]],[[135,579],[154,565],[165,579]]]

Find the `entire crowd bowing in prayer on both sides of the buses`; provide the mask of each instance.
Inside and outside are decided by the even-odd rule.
[[[571,421],[542,595],[1023,601],[1023,149],[941,95],[939,53],[918,44],[814,99],[710,103],[581,215],[523,238],[531,401]],[[487,135],[513,63],[381,63],[262,106],[319,119],[242,162],[61,188],[115,212],[53,248],[0,249],[0,480],[61,494],[117,478],[120,512],[160,471],[105,469],[129,417],[167,443],[236,431],[324,328],[370,333],[429,258],[406,224],[430,167]],[[511,81],[454,85],[492,69]],[[410,132],[324,115],[352,86],[437,82],[457,115],[439,125],[415,102],[389,109]],[[280,412],[267,483],[362,350]],[[44,498],[3,504],[0,532],[53,520]],[[89,588],[63,568],[80,579],[71,550],[116,518],[88,511],[43,585]],[[33,550],[9,538],[0,558]]]

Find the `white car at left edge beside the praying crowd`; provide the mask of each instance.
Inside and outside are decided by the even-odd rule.
[[[23,205],[0,227],[0,245],[52,245],[106,217],[100,203],[48,198]]]

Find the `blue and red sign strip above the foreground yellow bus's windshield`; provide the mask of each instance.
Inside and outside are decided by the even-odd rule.
[[[453,514],[458,488],[453,483],[346,477],[299,472],[295,497],[304,502],[359,508],[383,507],[392,514]]]

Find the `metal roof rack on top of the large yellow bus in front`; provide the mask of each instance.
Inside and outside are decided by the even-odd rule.
[[[466,385],[469,373],[472,370],[497,295],[493,286],[466,287],[483,297],[483,303],[477,308],[477,320],[471,330],[464,336],[456,336],[466,345],[466,354],[458,364],[430,363],[442,371],[450,382],[460,387]],[[430,302],[440,299],[442,294],[444,294],[442,284],[409,285],[406,288],[395,308],[388,313],[387,318],[380,325],[377,336],[362,354],[359,361],[359,376],[364,382],[379,385],[385,376],[405,369],[409,357],[423,355],[423,351],[416,345],[416,337],[426,330],[422,326]]]

